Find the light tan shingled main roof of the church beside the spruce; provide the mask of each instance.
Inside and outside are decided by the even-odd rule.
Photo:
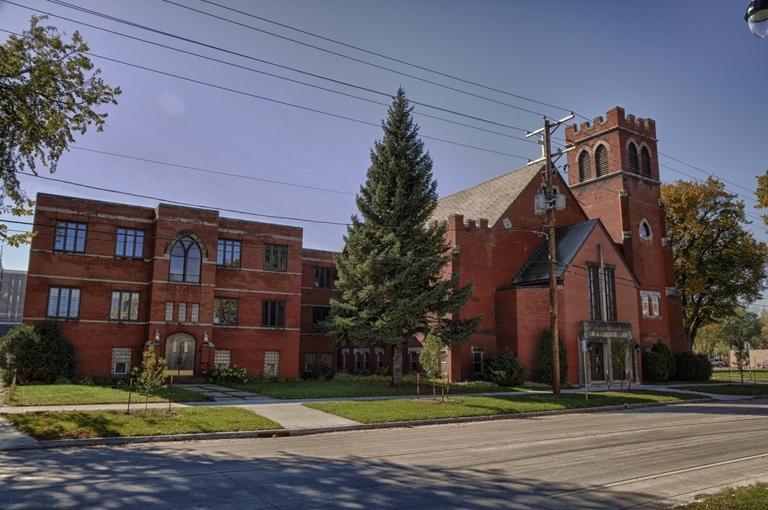
[[[543,167],[543,163],[532,163],[514,172],[441,198],[437,202],[431,219],[445,221],[452,214],[461,214],[465,218],[475,220],[487,219],[488,226],[492,227]],[[531,207],[533,207],[532,204]]]

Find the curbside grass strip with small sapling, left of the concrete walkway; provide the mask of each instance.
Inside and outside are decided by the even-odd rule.
[[[5,414],[35,439],[156,436],[282,428],[272,420],[239,407],[196,407],[124,411],[61,411]]]

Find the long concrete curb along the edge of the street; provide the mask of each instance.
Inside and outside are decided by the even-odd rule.
[[[755,397],[745,397],[739,400],[753,400]],[[736,400],[728,400],[734,402]],[[372,423],[360,425],[341,425],[333,427],[319,427],[306,429],[273,429],[273,430],[253,430],[240,432],[207,432],[201,434],[176,434],[168,436],[136,436],[136,437],[95,437],[90,439],[62,439],[55,441],[38,441],[33,444],[8,447],[2,452],[21,451],[21,450],[47,450],[54,448],[78,448],[87,446],[119,446],[126,444],[141,443],[170,443],[177,441],[210,441],[225,439],[259,439],[274,437],[297,437],[309,436],[315,434],[325,434],[330,432],[349,432],[356,430],[376,430],[376,429],[394,429],[394,428],[412,428],[427,425],[446,425],[451,423],[471,423],[497,420],[517,420],[523,418],[536,418],[540,416],[556,416],[564,414],[585,414],[597,412],[625,411],[630,409],[643,409],[651,407],[667,407],[682,404],[703,404],[708,402],[723,402],[716,398],[701,398],[693,400],[681,400],[676,402],[653,402],[646,404],[624,404],[619,406],[607,407],[588,407],[583,409],[562,409],[557,411],[538,411],[532,413],[515,414],[496,414],[485,416],[466,416],[462,418],[439,418],[433,420],[413,420],[397,421],[388,423]]]

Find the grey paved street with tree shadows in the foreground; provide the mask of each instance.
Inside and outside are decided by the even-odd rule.
[[[0,508],[664,508],[768,481],[768,401],[0,452]]]

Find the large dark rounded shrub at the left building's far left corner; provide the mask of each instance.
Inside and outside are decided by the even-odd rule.
[[[8,353],[16,357],[17,373],[31,382],[53,384],[57,380],[72,380],[75,375],[75,346],[57,322],[14,327],[0,340],[0,366],[5,367]],[[6,382],[13,378],[9,368],[4,370]]]

